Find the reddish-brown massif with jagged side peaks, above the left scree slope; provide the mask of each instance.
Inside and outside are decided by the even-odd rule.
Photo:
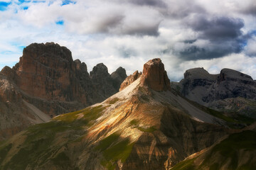
[[[84,62],[73,61],[70,50],[54,42],[28,45],[16,66],[1,73],[24,92],[26,101],[49,115],[104,101],[119,89],[104,64],[97,64],[89,75]]]

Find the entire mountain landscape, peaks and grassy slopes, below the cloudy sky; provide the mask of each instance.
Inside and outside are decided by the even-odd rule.
[[[129,77],[122,68],[110,75],[103,64],[89,75],[68,52],[54,43],[29,45],[13,69],[1,71],[8,113],[22,115],[17,122],[41,113],[47,123],[26,128],[39,123],[31,121],[1,142],[0,169],[256,169],[255,81],[249,76],[196,68],[175,83],[160,59]],[[88,107],[60,115],[82,106]]]

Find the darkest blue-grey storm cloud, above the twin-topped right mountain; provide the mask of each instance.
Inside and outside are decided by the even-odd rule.
[[[197,16],[186,19],[186,26],[198,34],[196,40],[178,42],[179,46],[171,49],[183,60],[213,59],[239,53],[247,42],[247,36],[242,35],[244,22],[240,18]]]

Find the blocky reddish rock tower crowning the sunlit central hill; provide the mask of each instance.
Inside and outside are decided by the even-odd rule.
[[[142,72],[142,85],[149,86],[154,91],[166,91],[171,89],[170,80],[164,69],[161,59],[149,60],[144,64]]]

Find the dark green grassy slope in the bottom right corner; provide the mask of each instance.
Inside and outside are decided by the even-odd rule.
[[[172,169],[256,169],[255,125],[254,129],[247,128],[223,137],[212,147],[191,155]]]

